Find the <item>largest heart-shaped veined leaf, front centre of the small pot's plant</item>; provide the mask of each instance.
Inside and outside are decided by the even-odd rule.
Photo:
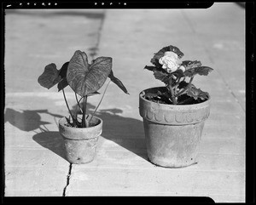
[[[99,57],[88,64],[87,55],[77,50],[67,66],[67,83],[76,94],[96,92],[106,82],[112,69],[112,58]]]

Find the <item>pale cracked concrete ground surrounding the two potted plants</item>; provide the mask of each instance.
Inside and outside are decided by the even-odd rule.
[[[5,196],[210,196],[215,202],[245,202],[244,23],[245,10],[236,3],[200,10],[7,14]],[[138,113],[139,92],[163,85],[143,67],[169,44],[183,51],[183,60],[201,60],[214,69],[208,77],[195,77],[212,102],[199,163],[188,168],[148,162]],[[113,73],[130,93],[109,84],[97,113],[103,132],[96,158],[84,165],[70,165],[63,155],[57,128],[67,116],[62,94],[37,82],[45,65],[60,67],[76,49],[91,58],[113,57]],[[75,105],[71,89],[66,92]],[[100,98],[90,97],[90,111]]]

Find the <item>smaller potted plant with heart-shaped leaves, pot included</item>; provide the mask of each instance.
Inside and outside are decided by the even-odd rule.
[[[49,89],[57,84],[58,91],[62,90],[69,117],[60,119],[59,132],[64,140],[68,162],[87,163],[95,157],[96,142],[99,135],[102,134],[102,119],[96,117],[95,113],[108,85],[93,113],[86,113],[86,104],[89,96],[99,94],[97,90],[102,88],[108,77],[110,78],[108,84],[112,81],[125,94],[128,94],[124,84],[113,76],[112,58],[98,57],[89,64],[87,55],[79,50],[75,51],[71,60],[62,65],[60,70],[57,70],[56,65],[51,63],[45,66],[43,74],[38,77],[38,83],[44,88]],[[79,115],[78,111],[72,112],[69,109],[64,92],[64,88],[67,86],[73,89],[82,115]]]

